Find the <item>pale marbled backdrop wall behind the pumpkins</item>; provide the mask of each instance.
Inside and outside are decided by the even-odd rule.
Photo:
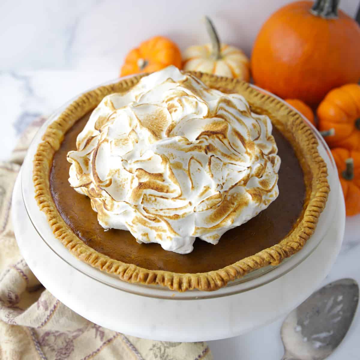
[[[207,42],[204,15],[213,19],[223,42],[249,55],[261,24],[289,2],[1,0],[0,69],[118,68],[129,49],[153,35],[168,36],[181,49]],[[358,4],[342,0],[340,8],[354,17]]]

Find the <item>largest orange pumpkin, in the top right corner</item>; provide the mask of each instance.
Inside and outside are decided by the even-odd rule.
[[[315,106],[334,87],[360,79],[360,27],[338,0],[298,1],[276,11],[253,46],[256,85]]]

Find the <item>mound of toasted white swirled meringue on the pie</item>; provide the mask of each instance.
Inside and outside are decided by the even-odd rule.
[[[170,66],[106,96],[78,135],[69,182],[104,229],[189,253],[278,196],[280,158],[267,116],[239,94]]]

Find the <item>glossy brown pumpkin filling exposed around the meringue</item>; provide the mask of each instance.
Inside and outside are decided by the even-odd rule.
[[[278,244],[301,219],[307,199],[304,174],[292,145],[273,127],[273,136],[282,159],[279,170],[279,196],[270,206],[245,224],[227,231],[217,245],[195,240],[189,254],[165,251],[159,244],[138,244],[129,231],[108,230],[100,226],[90,199],[75,192],[68,182],[70,163],[66,155],[76,149],[77,135],[91,112],[68,130],[55,152],[50,171],[50,191],[54,203],[68,226],[87,246],[127,264],[149,270],[174,273],[204,273],[221,269]]]

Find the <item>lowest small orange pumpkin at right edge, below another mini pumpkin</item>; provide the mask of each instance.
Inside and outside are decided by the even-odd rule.
[[[346,215],[360,213],[360,152],[344,148],[331,149],[344,193]]]

